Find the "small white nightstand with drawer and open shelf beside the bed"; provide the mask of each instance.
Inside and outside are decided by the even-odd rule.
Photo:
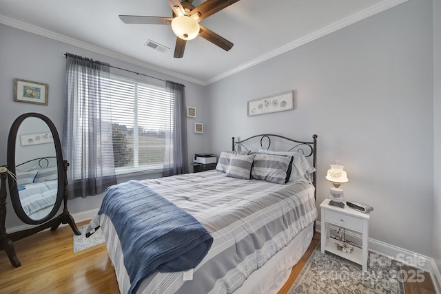
[[[345,208],[339,208],[329,205],[329,199],[325,199],[320,204],[322,209],[322,231],[321,231],[321,250],[334,253],[351,262],[355,262],[362,266],[363,271],[367,271],[367,240],[369,238],[369,213],[362,213],[355,209],[349,208],[345,204]],[[351,253],[343,253],[337,249],[336,242],[333,238],[329,238],[329,224],[336,227],[344,227],[353,231],[362,233],[362,249],[354,246]]]

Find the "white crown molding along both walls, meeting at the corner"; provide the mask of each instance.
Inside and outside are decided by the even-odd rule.
[[[362,21],[363,19],[367,19],[368,17],[371,17],[371,16],[378,14],[380,12],[383,12],[384,10],[388,10],[389,8],[393,8],[395,6],[398,6],[399,4],[407,2],[407,1],[409,1],[409,0],[385,0],[385,1],[382,1],[381,3],[378,3],[375,6],[371,6],[370,8],[367,8],[367,9],[362,10],[356,14],[353,14],[350,17],[346,17],[345,19],[337,21],[336,23],[333,23],[331,25],[328,25],[325,28],[317,30],[316,32],[313,32],[311,34],[308,34],[307,36],[303,36],[302,38],[297,39],[294,42],[288,43],[287,45],[284,45],[276,50],[273,50],[267,54],[264,54],[264,55],[258,57],[257,59],[254,59],[252,61],[244,63],[243,65],[235,67],[234,69],[229,70],[227,72],[224,72],[223,74],[220,74],[218,76],[215,76],[214,78],[210,78],[207,81],[201,81],[196,78],[191,78],[189,76],[179,74],[177,72],[165,70],[162,67],[154,66],[150,63],[146,63],[145,61],[141,61],[139,59],[134,59],[132,57],[129,57],[129,56],[126,56],[123,54],[119,54],[119,53],[114,52],[112,50],[107,50],[107,49],[104,49],[104,48],[101,48],[101,47],[98,47],[95,45],[91,45],[89,43],[85,43],[83,41],[79,41],[79,40],[70,38],[68,36],[63,36],[61,34],[57,34],[57,33],[52,32],[50,30],[38,28],[34,25],[29,25],[28,23],[16,21],[16,20],[10,19],[8,17],[3,17],[2,15],[0,15],[0,23],[3,23],[5,25],[9,25],[13,28],[18,28],[20,30],[25,30],[26,32],[31,32],[33,34],[45,36],[49,39],[53,39],[56,41],[60,41],[63,43],[74,45],[76,47],[83,48],[85,50],[89,50],[89,51],[92,51],[95,53],[103,54],[103,55],[109,56],[113,59],[118,59],[120,61],[125,61],[127,63],[132,63],[134,65],[139,65],[141,67],[147,68],[148,70],[154,70],[156,72],[160,72],[161,74],[167,74],[169,76],[174,76],[175,78],[181,78],[184,81],[189,81],[192,83],[196,83],[198,85],[206,86],[206,85],[209,85],[209,84],[214,83],[216,81],[220,81],[223,78],[227,78],[228,76],[232,76],[233,74],[237,74],[238,72],[246,70],[249,67],[252,67],[254,65],[262,63],[263,61],[267,61],[268,59],[271,59],[271,58],[276,57],[280,54],[288,52],[289,50],[293,50],[295,48],[298,48],[301,45],[305,45],[306,43],[309,43],[311,41],[319,39],[322,36],[326,36],[327,34],[331,34],[332,32],[335,32],[336,30],[346,28],[348,25],[351,25],[351,24],[356,23],[358,21]]]

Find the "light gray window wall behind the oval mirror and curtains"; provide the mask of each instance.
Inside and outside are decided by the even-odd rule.
[[[63,54],[65,54],[65,52],[110,63],[110,65],[134,72],[183,83],[185,85],[187,105],[194,106],[198,109],[197,118],[187,119],[189,160],[192,159],[192,154],[206,151],[205,134],[194,134],[193,131],[195,121],[205,123],[205,120],[208,118],[205,112],[205,108],[207,107],[205,87],[0,24],[0,138],[3,138],[3,140],[0,141],[0,165],[6,165],[6,146],[9,129],[14,119],[20,114],[39,112],[48,116],[57,127],[60,137],[62,136],[63,89],[65,83],[65,56]],[[153,52],[152,54],[160,53]],[[127,72],[116,71],[116,73],[130,77],[130,74]],[[134,77],[134,75],[132,75],[132,77]],[[14,102],[12,98],[14,78],[48,83],[48,106]],[[143,76],[136,76],[136,78],[143,78]],[[151,81],[158,83],[157,80]],[[190,170],[192,170],[192,167],[190,167]],[[157,176],[161,175],[150,175],[150,177]],[[70,213],[79,213],[81,211],[97,209],[101,204],[101,199],[101,196],[97,196],[70,200],[68,204],[69,211]],[[23,222],[14,215],[9,198],[6,217],[7,228],[23,225]]]

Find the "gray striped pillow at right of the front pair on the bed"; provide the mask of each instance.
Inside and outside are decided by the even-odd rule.
[[[257,180],[285,184],[291,159],[292,156],[258,153],[254,157],[251,176]]]

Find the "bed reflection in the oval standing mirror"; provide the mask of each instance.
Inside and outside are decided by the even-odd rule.
[[[23,211],[40,220],[52,211],[58,193],[57,158],[34,158],[16,166],[17,187]]]

